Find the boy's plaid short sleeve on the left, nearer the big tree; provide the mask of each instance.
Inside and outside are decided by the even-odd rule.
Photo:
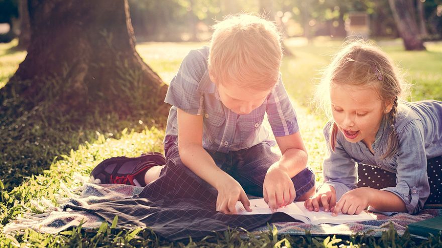
[[[191,50],[170,82],[164,102],[189,114],[201,115],[203,96],[197,88],[205,70],[205,59],[200,51]]]

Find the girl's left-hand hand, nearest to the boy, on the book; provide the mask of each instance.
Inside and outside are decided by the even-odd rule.
[[[322,185],[318,192],[312,197],[304,201],[304,206],[309,211],[319,211],[319,206],[324,207],[325,212],[332,212],[336,205],[336,191],[335,188],[328,185]]]

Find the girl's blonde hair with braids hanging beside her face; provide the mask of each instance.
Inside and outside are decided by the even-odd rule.
[[[393,108],[384,114],[384,129],[390,129],[388,147],[381,158],[391,157],[398,148],[398,137],[394,129],[397,117],[398,99],[408,85],[389,57],[375,45],[363,40],[347,43],[325,69],[315,99],[325,111],[332,125],[330,126],[329,144],[335,151],[338,126],[333,120],[330,103],[330,87],[333,85],[353,85],[374,87],[378,97],[385,103],[392,103]]]

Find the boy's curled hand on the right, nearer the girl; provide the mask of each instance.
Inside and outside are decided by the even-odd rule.
[[[293,202],[296,191],[286,170],[280,167],[269,168],[264,178],[263,195],[272,212]]]

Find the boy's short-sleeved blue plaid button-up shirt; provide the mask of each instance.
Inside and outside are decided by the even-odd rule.
[[[274,145],[275,141],[269,138],[269,131],[262,125],[266,113],[275,136],[287,136],[298,131],[296,114],[281,76],[260,107],[250,114],[238,115],[219,99],[208,74],[208,54],[208,47],[190,51],[170,82],[165,102],[173,106],[167,120],[165,141],[178,142],[177,108],[189,114],[203,115],[202,145],[212,151],[227,153],[261,142]]]

